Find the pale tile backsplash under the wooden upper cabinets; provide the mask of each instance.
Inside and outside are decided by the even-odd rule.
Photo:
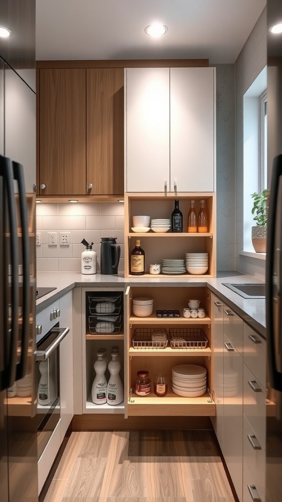
[[[118,271],[124,271],[124,204],[93,202],[85,204],[36,204],[36,227],[40,245],[36,246],[39,272],[80,272],[81,241],[93,242],[97,253],[97,272],[100,272],[100,239],[117,237],[120,245]],[[57,234],[57,245],[48,244],[48,233]],[[60,245],[60,232],[70,233],[70,244]]]

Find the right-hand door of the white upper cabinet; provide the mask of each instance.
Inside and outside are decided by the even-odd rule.
[[[171,191],[214,191],[214,73],[170,69]]]

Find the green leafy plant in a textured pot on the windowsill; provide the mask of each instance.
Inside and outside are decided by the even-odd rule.
[[[252,214],[256,226],[252,226],[252,245],[256,253],[266,253],[266,223],[267,223],[267,197],[268,191],[262,190],[261,194],[254,192]]]

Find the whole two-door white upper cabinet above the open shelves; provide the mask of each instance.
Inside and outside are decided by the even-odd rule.
[[[215,69],[125,69],[125,191],[213,192]]]

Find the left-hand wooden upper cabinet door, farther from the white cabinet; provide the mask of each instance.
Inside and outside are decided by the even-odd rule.
[[[85,195],[86,70],[40,70],[39,113],[40,194]]]

